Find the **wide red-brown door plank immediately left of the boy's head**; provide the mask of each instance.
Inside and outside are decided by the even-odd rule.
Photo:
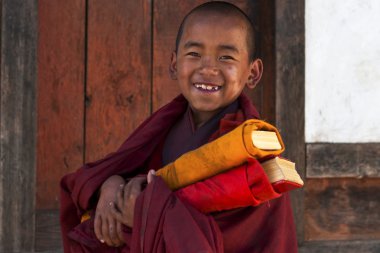
[[[102,158],[150,114],[150,1],[89,1],[86,161]]]

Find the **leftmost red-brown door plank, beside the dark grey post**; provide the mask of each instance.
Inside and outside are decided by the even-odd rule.
[[[85,0],[38,2],[37,209],[83,163]]]

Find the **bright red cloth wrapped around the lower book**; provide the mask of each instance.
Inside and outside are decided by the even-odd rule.
[[[273,189],[263,168],[255,159],[181,188],[175,194],[203,213],[257,206],[281,196]]]

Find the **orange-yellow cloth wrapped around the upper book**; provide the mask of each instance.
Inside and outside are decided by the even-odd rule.
[[[281,144],[280,150],[261,150],[252,143],[251,133],[255,130],[273,131]],[[248,158],[260,159],[279,155],[285,150],[278,130],[269,123],[251,119],[231,132],[180,156],[173,163],[156,172],[172,190],[205,180],[239,166]]]

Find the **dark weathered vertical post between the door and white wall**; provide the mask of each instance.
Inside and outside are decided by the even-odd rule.
[[[276,122],[283,137],[284,156],[296,163],[305,177],[304,0],[276,1]],[[304,238],[303,190],[292,192],[292,207],[299,243]]]

